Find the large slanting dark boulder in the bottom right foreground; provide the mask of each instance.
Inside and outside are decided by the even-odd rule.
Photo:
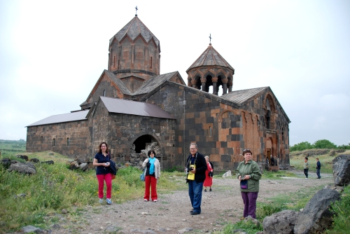
[[[321,233],[328,228],[332,224],[333,215],[329,208],[337,200],[340,200],[340,194],[337,191],[329,188],[318,191],[297,217],[294,233]]]

